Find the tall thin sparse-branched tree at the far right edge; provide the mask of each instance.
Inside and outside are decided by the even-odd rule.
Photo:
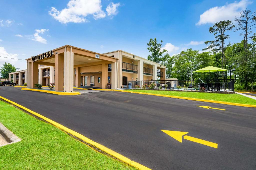
[[[249,50],[248,50],[248,40],[252,39],[253,36],[249,37],[249,35],[252,33],[252,30],[256,23],[254,22],[254,15],[255,15],[256,11],[254,11],[253,13],[251,13],[250,9],[246,9],[241,11],[239,18],[236,18],[236,22],[237,22],[237,28],[235,29],[235,31],[242,31],[242,33],[240,33],[241,36],[243,36],[244,39],[244,66],[248,67],[248,54],[249,54]],[[244,78],[245,78],[245,89],[248,90],[248,72],[244,72]]]

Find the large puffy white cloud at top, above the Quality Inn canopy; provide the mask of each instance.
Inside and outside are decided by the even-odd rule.
[[[54,19],[64,24],[68,22],[87,22],[86,17],[88,15],[93,15],[94,19],[104,18],[106,16],[102,10],[100,0],[70,0],[67,7],[61,11],[58,11],[55,7],[51,7],[48,13]]]

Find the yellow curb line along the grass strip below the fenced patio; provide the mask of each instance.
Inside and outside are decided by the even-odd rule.
[[[114,90],[114,91],[117,91],[117,90]],[[256,107],[256,105],[251,105],[251,104],[240,104],[240,103],[231,103],[231,102],[225,102],[225,101],[206,100],[206,99],[196,99],[196,98],[190,98],[190,97],[160,95],[160,94],[143,93],[143,92],[136,92],[136,91],[127,91],[127,90],[118,90],[118,91],[127,92],[127,93],[144,94],[144,95],[153,95],[153,96],[170,97],[170,98],[176,98],[176,99],[186,99],[186,100],[204,101],[204,102],[210,102],[210,103],[228,104],[228,105],[233,105],[233,106]]]

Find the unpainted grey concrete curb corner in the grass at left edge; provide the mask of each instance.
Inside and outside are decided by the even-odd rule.
[[[21,140],[16,135],[14,135],[14,133],[12,133],[9,129],[7,129],[2,123],[0,123],[0,134],[8,142],[4,145],[0,145],[0,147],[5,146],[5,145],[9,145],[9,144],[12,144],[12,143],[19,142]]]

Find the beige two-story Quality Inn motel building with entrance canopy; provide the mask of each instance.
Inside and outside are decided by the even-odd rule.
[[[17,85],[27,83],[28,88],[36,88],[35,83],[47,85],[55,83],[56,91],[73,91],[73,86],[94,86],[125,88],[127,81],[165,80],[165,66],[135,56],[122,50],[109,53],[95,53],[85,49],[65,45],[27,59],[27,70],[9,73],[15,77]],[[24,75],[18,79],[16,75]],[[64,86],[64,89],[63,89]]]

